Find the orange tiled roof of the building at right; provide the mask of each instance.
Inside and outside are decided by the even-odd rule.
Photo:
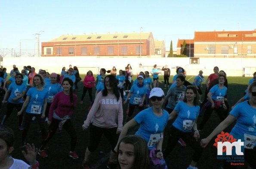
[[[194,42],[256,41],[256,30],[194,32]]]

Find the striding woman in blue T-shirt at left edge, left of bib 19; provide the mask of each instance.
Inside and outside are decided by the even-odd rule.
[[[17,111],[19,112],[22,109],[23,104],[23,96],[26,93],[26,85],[22,82],[22,74],[16,74],[15,72],[12,73],[12,75],[15,75],[15,82],[11,83],[8,87],[7,92],[4,95],[3,103],[7,103],[7,112],[3,116],[1,127],[3,127],[4,123],[8,119],[8,117],[11,115],[13,108],[15,107]],[[22,120],[23,116],[19,116],[19,130],[23,130],[22,127]]]

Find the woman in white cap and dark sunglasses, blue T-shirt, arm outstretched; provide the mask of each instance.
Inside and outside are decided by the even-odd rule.
[[[118,143],[127,134],[130,128],[139,125],[139,130],[135,134],[146,140],[148,151],[150,151],[149,154],[156,157],[155,160],[157,161],[163,159],[163,130],[167,124],[169,114],[166,110],[162,109],[164,103],[164,93],[162,89],[157,87],[153,88],[150,92],[149,99],[151,100],[152,107],[142,110],[123,126]],[[117,147],[115,151],[117,151]],[[154,160],[151,158],[151,163],[155,166],[153,161]]]

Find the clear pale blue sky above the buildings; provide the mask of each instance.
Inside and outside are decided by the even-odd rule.
[[[194,31],[256,28],[256,0],[0,0],[0,6],[0,54],[19,52],[20,42],[22,53],[37,51],[40,31],[40,42],[47,42],[67,33],[139,33],[142,27],[169,50],[171,40],[176,48]]]

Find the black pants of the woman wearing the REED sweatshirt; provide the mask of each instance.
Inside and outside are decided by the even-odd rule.
[[[111,149],[114,152],[114,148],[117,145],[118,135],[117,135],[117,127],[114,128],[102,128],[97,127],[95,125],[90,125],[90,144],[88,146],[88,150],[93,152],[99,145],[102,134],[108,139],[108,142],[111,145]]]

